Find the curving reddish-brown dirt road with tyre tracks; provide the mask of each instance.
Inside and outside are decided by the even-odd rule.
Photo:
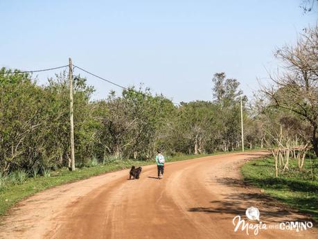
[[[240,181],[239,166],[264,152],[222,154],[167,163],[164,179],[145,166],[58,186],[19,203],[1,218],[0,238],[250,238],[234,232],[233,217],[256,206],[270,225],[306,220]],[[247,222],[247,221],[246,221]],[[252,222],[257,224],[257,222]],[[314,224],[315,227],[315,224]],[[318,238],[307,231],[260,230],[258,238]]]

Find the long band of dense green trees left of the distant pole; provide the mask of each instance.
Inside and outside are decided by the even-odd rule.
[[[67,73],[38,85],[26,73],[1,69],[0,167],[17,169],[69,166],[69,87]],[[239,83],[215,74],[211,102],[174,105],[149,89],[110,92],[92,101],[94,89],[74,78],[76,166],[109,157],[150,159],[166,154],[233,150],[240,144]],[[218,96],[216,96],[218,95]],[[245,116],[246,118],[247,116]]]

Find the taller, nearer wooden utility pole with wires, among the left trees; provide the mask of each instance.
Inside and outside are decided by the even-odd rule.
[[[71,125],[71,170],[75,171],[74,152],[74,121],[73,121],[73,69],[72,60],[69,57],[69,121]]]

